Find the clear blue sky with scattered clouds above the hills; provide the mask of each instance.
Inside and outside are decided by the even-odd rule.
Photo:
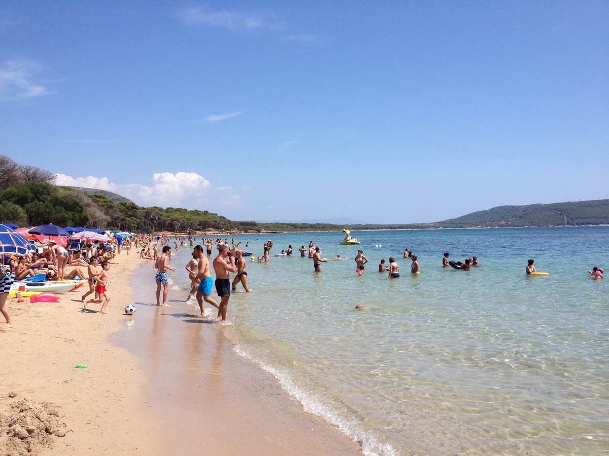
[[[609,198],[609,3],[0,2],[0,153],[142,206]]]

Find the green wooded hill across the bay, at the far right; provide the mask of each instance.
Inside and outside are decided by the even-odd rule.
[[[434,223],[443,228],[609,224],[609,199],[498,206]]]

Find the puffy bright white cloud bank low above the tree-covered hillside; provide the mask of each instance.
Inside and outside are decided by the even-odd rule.
[[[99,188],[118,193],[131,199],[138,206],[185,207],[186,209],[209,210],[208,205],[241,206],[241,196],[233,188],[214,187],[207,179],[197,173],[155,173],[152,186],[140,184],[115,184],[108,178],[72,178],[66,174],[55,174],[55,185],[70,187]],[[205,206],[203,206],[205,205]]]

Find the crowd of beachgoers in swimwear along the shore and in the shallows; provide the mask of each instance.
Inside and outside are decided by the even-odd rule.
[[[186,242],[187,240],[188,243]],[[212,238],[202,237],[201,243],[195,245],[196,237],[192,235],[188,236],[188,238],[186,236],[175,235],[172,240],[167,235],[153,237],[141,234],[123,238],[121,235],[116,234],[107,242],[90,241],[86,238],[83,242],[83,249],[66,249],[51,240],[48,245],[41,248],[40,252],[37,250],[36,252],[30,252],[21,256],[12,255],[7,257],[8,270],[5,271],[5,274],[0,274],[0,311],[6,323],[4,326],[0,326],[0,328],[9,329],[13,327],[12,320],[5,306],[12,282],[28,280],[28,278],[40,274],[44,274],[49,280],[86,280],[88,291],[81,297],[83,308],[87,309],[87,305],[96,303],[101,305],[99,313],[106,313],[105,309],[111,300],[107,290],[107,286],[110,284],[110,266],[111,264],[116,264],[114,262],[116,255],[120,255],[122,250],[124,250],[125,254],[129,255],[130,249],[137,249],[139,251],[139,258],[155,261],[155,269],[157,271],[155,274],[157,306],[168,306],[169,276],[167,271],[176,270],[169,265],[172,253],[170,243],[174,244],[175,250],[179,250],[180,247],[192,249],[192,259],[185,266],[191,282],[191,288],[186,300],[191,300],[193,297],[197,300],[200,317],[205,314],[203,303],[206,302],[217,309],[217,317],[219,319],[226,320],[230,292],[235,291],[239,283],[241,283],[246,292],[250,291],[247,284],[247,261],[245,257],[252,254],[240,249],[241,242],[235,243],[234,239],[229,243],[227,239],[216,238],[216,240],[213,240]],[[248,245],[249,241],[245,244],[245,247],[247,248]],[[217,256],[210,263],[209,258],[211,258],[214,246],[217,250]],[[272,248],[272,240],[265,242],[262,256],[257,257],[258,262],[268,262]],[[301,246],[298,252],[300,252],[301,257],[308,257],[313,260],[315,272],[321,272],[322,263],[328,263],[328,259],[322,258],[321,247],[315,246],[313,241],[309,243],[308,247]],[[281,253],[275,256],[292,255],[294,255],[294,249],[289,245],[287,249],[281,250]],[[453,267],[463,271],[470,271],[472,267],[476,268],[482,264],[475,256],[465,258],[463,263],[449,261],[449,256],[449,252],[443,255],[443,268]],[[417,255],[409,249],[405,249],[403,257],[411,261],[410,274],[420,274]],[[334,260],[350,259],[348,257],[340,257],[340,255],[334,257]],[[369,261],[365,257],[364,251],[361,249],[357,250],[357,255],[353,260],[356,263],[357,274],[363,275],[365,266]],[[254,261],[253,257],[251,257],[251,261]],[[527,275],[540,274],[535,270],[534,263],[535,261],[532,259],[527,261],[525,270]],[[71,268],[71,270],[68,271],[68,268]],[[215,280],[211,274],[212,269]],[[382,259],[378,265],[378,271],[388,272],[390,279],[400,277],[400,265],[394,257],[389,258],[388,265]],[[597,280],[604,277],[604,269],[597,266],[594,266],[588,273],[590,277]],[[236,274],[232,282],[230,274]],[[214,286],[220,302],[211,297]],[[87,299],[88,297],[90,298]]]

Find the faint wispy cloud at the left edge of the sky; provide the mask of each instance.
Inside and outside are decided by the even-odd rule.
[[[7,60],[0,66],[0,101],[25,100],[54,92],[35,81],[42,67],[29,60]]]

